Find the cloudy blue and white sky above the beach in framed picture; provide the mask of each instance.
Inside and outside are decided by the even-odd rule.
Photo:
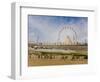
[[[73,40],[75,33],[77,40],[84,42],[87,41],[87,28],[87,17],[28,15],[29,42],[52,43],[57,42],[58,38],[62,41],[66,36]]]

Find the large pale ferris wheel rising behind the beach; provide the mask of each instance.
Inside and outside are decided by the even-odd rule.
[[[57,42],[64,45],[76,45],[78,43],[78,35],[74,27],[71,25],[62,27],[58,33]]]

